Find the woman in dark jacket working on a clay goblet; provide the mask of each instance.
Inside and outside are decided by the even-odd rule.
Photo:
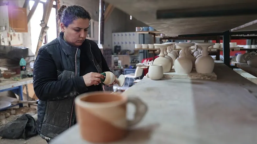
[[[38,133],[48,142],[76,123],[74,98],[103,91],[100,73],[110,71],[98,45],[86,39],[91,17],[83,7],[61,6],[57,19],[61,33],[39,49],[33,71]]]

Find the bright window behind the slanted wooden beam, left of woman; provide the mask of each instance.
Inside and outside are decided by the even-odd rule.
[[[29,1],[29,9],[31,10],[34,0]],[[46,0],[41,0],[37,5],[37,8],[30,19],[30,30],[31,30],[31,49],[35,54],[37,49],[37,42],[39,38],[39,34],[41,31],[41,20],[43,18],[44,5]],[[53,8],[51,9],[50,17],[48,19],[47,26],[49,27],[45,38],[43,39],[42,45],[47,44],[48,42],[57,38],[57,20],[56,20],[57,6],[56,1],[53,2]]]

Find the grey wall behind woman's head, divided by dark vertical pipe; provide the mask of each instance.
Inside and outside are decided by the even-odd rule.
[[[61,5],[72,5],[77,4],[83,6],[87,11],[90,12],[93,20],[99,19],[99,0],[61,0]],[[106,8],[108,4],[105,4]],[[135,31],[137,26],[147,26],[135,18],[130,20],[130,15],[124,13],[120,9],[115,8],[112,14],[104,23],[104,45],[112,47],[112,33],[115,32],[131,32]],[[114,49],[114,48],[112,48]]]

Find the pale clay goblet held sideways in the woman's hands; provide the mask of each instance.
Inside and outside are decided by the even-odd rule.
[[[119,76],[119,78],[117,79],[117,78],[115,78],[115,75],[112,72],[110,72],[110,71],[106,71],[104,73],[106,74],[105,80],[103,82],[104,84],[106,84],[106,85],[112,84],[115,81],[115,79],[116,79],[119,82],[118,83],[119,87],[122,87],[124,85],[125,76],[123,74],[121,74]]]

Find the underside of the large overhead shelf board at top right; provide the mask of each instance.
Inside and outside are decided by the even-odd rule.
[[[178,36],[184,34],[195,33],[222,33],[231,30],[245,23],[256,20],[257,15],[233,15],[233,16],[217,16],[217,17],[191,17],[191,18],[174,18],[174,19],[156,19],[157,10],[165,9],[192,9],[194,14],[203,8],[210,8],[210,10],[220,9],[231,10],[253,8],[257,5],[257,1],[252,0],[238,0],[231,1],[223,0],[106,0],[106,2],[113,4],[116,8],[132,15],[137,20],[153,27],[157,31],[164,33],[167,36]]]

